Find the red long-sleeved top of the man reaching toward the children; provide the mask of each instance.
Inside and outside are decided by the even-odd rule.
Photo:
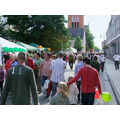
[[[93,93],[95,92],[96,87],[98,87],[98,90],[101,94],[101,85],[100,80],[98,76],[98,72],[96,69],[86,66],[81,68],[76,76],[67,82],[68,85],[74,83],[81,77],[81,91],[82,93]]]

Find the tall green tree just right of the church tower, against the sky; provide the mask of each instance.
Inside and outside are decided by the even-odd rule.
[[[90,33],[89,28],[85,28],[86,33],[86,51],[94,48],[94,36]]]

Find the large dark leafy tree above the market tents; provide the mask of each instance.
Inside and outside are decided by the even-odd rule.
[[[5,15],[9,26],[10,37],[13,40],[36,43],[61,50],[61,42],[68,41],[68,30],[63,15]]]

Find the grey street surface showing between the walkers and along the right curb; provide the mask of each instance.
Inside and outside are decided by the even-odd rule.
[[[109,61],[107,61],[106,66],[107,66],[107,64],[111,64],[111,63]],[[75,67],[75,65],[74,65],[74,67]],[[74,67],[73,67],[73,70],[70,70],[69,65],[67,64],[67,69],[65,70],[65,81],[66,82],[67,82],[68,77],[70,75],[74,75]],[[109,65],[109,67],[110,67],[110,65]],[[106,69],[108,69],[108,66],[107,66]],[[110,71],[111,71],[111,69],[110,69]],[[103,73],[100,72],[99,73],[99,78],[100,78],[100,82],[101,82],[102,92],[109,92],[111,94],[111,97],[112,97],[112,99],[111,99],[111,101],[109,103],[105,103],[105,102],[102,101],[102,102],[100,102],[100,104],[101,105],[117,105],[116,97],[115,97],[114,92],[113,92],[113,90],[111,88],[109,78],[108,78],[108,76],[106,74],[106,71],[104,71]],[[45,98],[43,93],[39,94],[39,102],[40,102],[41,105],[49,105],[50,100],[51,100],[51,98],[50,97]],[[8,97],[8,99],[7,99],[7,104],[11,104],[10,103],[10,97]],[[98,104],[99,104],[99,102],[95,101],[95,105],[98,105]]]

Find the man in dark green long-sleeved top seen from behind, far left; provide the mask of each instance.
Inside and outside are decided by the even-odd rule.
[[[6,103],[8,93],[11,92],[13,105],[30,105],[31,94],[33,103],[38,105],[34,72],[24,64],[25,53],[20,52],[18,54],[18,65],[10,68],[7,73],[0,104],[4,105]]]

